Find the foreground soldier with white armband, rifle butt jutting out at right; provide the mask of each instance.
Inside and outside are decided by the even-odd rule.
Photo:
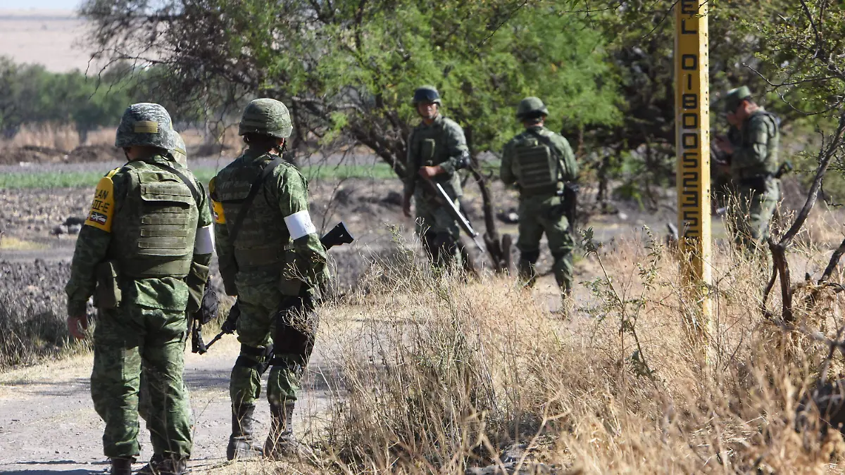
[[[313,297],[326,276],[326,254],[308,214],[308,183],[281,159],[291,132],[291,117],[280,101],[250,102],[238,130],[248,149],[209,185],[221,277],[241,311],[241,354],[229,384],[229,460],[261,453],[253,445],[253,423],[267,365],[271,425],[264,456],[303,450],[293,439],[292,416],[313,349]]]

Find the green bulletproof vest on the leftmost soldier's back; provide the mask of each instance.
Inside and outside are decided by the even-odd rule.
[[[128,189],[112,226],[109,255],[124,276],[188,276],[199,210],[191,189],[171,172],[128,163]]]

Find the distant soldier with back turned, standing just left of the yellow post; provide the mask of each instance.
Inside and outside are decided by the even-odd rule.
[[[516,183],[520,192],[519,272],[527,286],[537,280],[534,269],[540,257],[540,238],[546,233],[554,258],[554,278],[569,295],[572,291],[572,248],[564,187],[578,177],[578,164],[570,143],[543,126],[548,109],[537,97],[526,97],[516,107],[516,118],[525,131],[504,145],[500,177]],[[571,188],[570,188],[571,189]],[[571,216],[571,215],[570,215]]]

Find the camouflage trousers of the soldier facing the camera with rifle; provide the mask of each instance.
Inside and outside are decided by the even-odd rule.
[[[460,206],[460,199],[455,198],[455,205]],[[461,268],[461,252],[458,243],[461,239],[461,226],[455,221],[445,205],[423,194],[415,197],[417,210],[417,236],[423,242],[423,248],[433,265],[444,266],[453,262]]]

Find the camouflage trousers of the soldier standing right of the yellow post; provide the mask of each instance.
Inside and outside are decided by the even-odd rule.
[[[771,218],[781,199],[780,180],[767,179],[761,190],[738,185],[733,198],[734,243],[750,251],[766,248]]]

